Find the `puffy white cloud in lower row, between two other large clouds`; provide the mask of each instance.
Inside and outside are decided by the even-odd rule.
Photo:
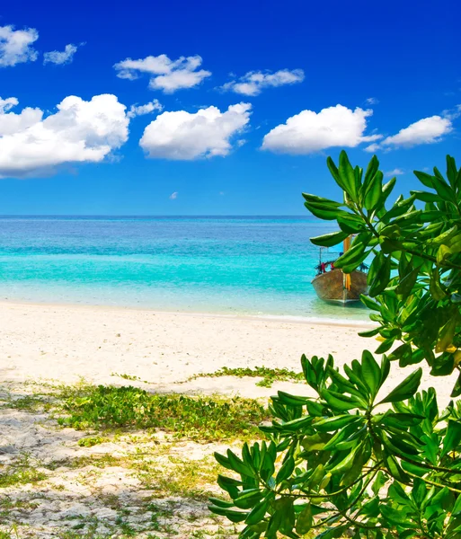
[[[139,145],[148,157],[191,160],[228,155],[231,137],[242,133],[250,121],[249,103],[231,105],[221,112],[217,107],[164,112],[145,129]]]

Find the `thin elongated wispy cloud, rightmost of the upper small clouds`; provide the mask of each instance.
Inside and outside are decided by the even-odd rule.
[[[244,95],[258,95],[264,88],[270,86],[283,86],[285,84],[296,84],[304,81],[304,71],[302,69],[280,69],[275,73],[262,71],[249,71],[239,79],[230,81],[221,90],[226,92],[243,93]]]

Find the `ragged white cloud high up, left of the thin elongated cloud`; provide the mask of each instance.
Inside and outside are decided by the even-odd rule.
[[[205,69],[197,71],[201,62],[202,59],[199,56],[171,60],[165,54],[161,54],[157,57],[149,56],[138,60],[127,58],[115,64],[114,68],[118,72],[118,77],[130,81],[137,79],[139,74],[151,75],[149,88],[173,93],[181,88],[193,88],[211,75]]]

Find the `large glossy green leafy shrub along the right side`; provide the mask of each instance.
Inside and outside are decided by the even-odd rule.
[[[447,157],[446,181],[415,172],[429,190],[386,201],[377,157],[365,174],[341,152],[328,159],[342,202],[304,194],[317,217],[340,230],[312,238],[332,246],[356,234],[335,262],[350,273],[368,257],[368,296],[377,323],[378,363],[368,350],[343,373],[332,356],[301,359],[316,397],[272,397],[267,441],[216,455],[233,474],[218,483],[230,499],[210,509],[242,523],[241,537],[461,537],[461,406],[439,411],[430,388],[418,392],[421,367],[385,391],[393,361],[427,362],[433,376],[459,371],[461,360],[461,169]],[[458,349],[459,347],[459,349]],[[386,355],[386,352],[389,352]],[[461,376],[452,397],[461,393]]]

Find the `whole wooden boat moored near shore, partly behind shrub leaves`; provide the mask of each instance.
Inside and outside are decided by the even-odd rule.
[[[344,252],[350,248],[350,238],[344,241]],[[328,270],[328,268],[331,270]],[[319,273],[312,280],[317,296],[324,301],[340,302],[346,305],[349,302],[359,301],[360,294],[367,293],[367,266],[362,264],[359,270],[352,273],[342,273],[334,268],[334,260],[322,261],[317,267]]]

